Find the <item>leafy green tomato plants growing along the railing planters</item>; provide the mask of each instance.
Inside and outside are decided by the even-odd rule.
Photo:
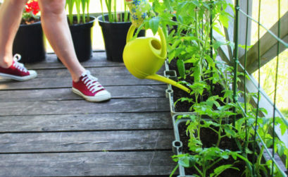
[[[179,83],[187,85],[192,90],[190,97],[182,97],[178,102],[189,102],[189,111],[194,115],[179,116],[189,118],[187,121],[188,147],[190,152],[173,156],[178,165],[186,168],[194,168],[197,173],[194,176],[219,176],[227,169],[238,171],[234,165],[239,161],[246,163],[246,169],[239,171],[245,176],[269,176],[271,161],[263,164],[264,147],[258,147],[260,136],[267,147],[274,147],[280,157],[288,157],[288,149],[278,138],[271,136],[269,128],[273,118],[258,117],[256,125],[256,111],[265,113],[265,109],[254,109],[250,100],[257,98],[255,93],[244,95],[237,91],[236,94],[230,89],[232,85],[240,83],[242,73],[237,73],[234,83],[234,68],[223,61],[217,61],[218,48],[227,45],[234,49],[233,42],[216,41],[211,38],[213,32],[223,35],[223,29],[229,27],[229,19],[232,16],[225,11],[232,7],[227,1],[213,0],[151,0],[155,16],[149,16],[140,28],[151,29],[154,35],[158,28],[163,28],[167,40],[168,61],[176,60]],[[140,29],[139,28],[139,29]],[[189,64],[192,67],[186,68]],[[192,82],[185,80],[193,78]],[[213,95],[213,85],[223,87],[223,96]],[[203,100],[204,92],[208,92],[208,99]],[[244,103],[233,102],[237,97],[249,99]],[[245,107],[243,111],[242,107]],[[210,119],[202,118],[208,116]],[[282,128],[282,133],[287,130],[280,118],[275,119],[275,125]],[[213,147],[204,147],[200,138],[200,130],[208,128],[217,135],[218,140]],[[256,133],[256,128],[258,131]],[[237,144],[238,151],[221,149],[220,142],[223,138],[229,138]],[[256,143],[253,139],[256,138]],[[275,142],[273,142],[275,140]],[[249,157],[255,157],[253,160]],[[219,161],[234,159],[232,164],[218,166]],[[286,158],[287,159],[287,158]],[[286,161],[286,167],[288,161]],[[178,167],[175,167],[175,169]],[[253,166],[253,168],[251,167]],[[175,171],[173,170],[173,173]],[[208,174],[208,169],[213,172]],[[173,174],[172,173],[172,174]],[[275,176],[279,171],[275,169]],[[171,175],[172,175],[171,174]]]

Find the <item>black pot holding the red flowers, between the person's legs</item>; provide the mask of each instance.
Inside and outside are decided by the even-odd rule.
[[[41,22],[20,25],[13,42],[13,54],[20,54],[20,63],[37,63],[46,58]]]

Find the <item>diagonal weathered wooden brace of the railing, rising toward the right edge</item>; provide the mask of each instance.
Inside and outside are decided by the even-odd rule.
[[[281,30],[280,30],[280,39],[283,39],[285,42],[288,42],[288,12],[280,18],[281,23]],[[278,29],[278,22],[273,25],[272,28],[270,28],[270,31],[272,31],[275,35],[277,35],[277,29]],[[268,63],[272,59],[274,59],[275,56],[277,56],[277,39],[270,35],[270,33],[266,32],[263,37],[258,41],[260,42],[260,49],[261,49],[261,66],[264,66],[265,63]],[[254,71],[258,70],[258,42],[247,51],[247,63],[246,63],[246,70],[248,73],[253,73]],[[282,44],[280,43],[280,46]],[[284,51],[286,47],[280,47],[280,52]],[[242,56],[239,61],[244,66],[244,56]]]

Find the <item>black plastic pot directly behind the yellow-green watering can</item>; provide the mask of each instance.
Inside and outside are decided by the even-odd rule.
[[[123,13],[121,14],[123,15]],[[127,32],[132,25],[131,22],[110,23],[108,14],[99,16],[99,25],[102,29],[106,56],[108,61],[123,62],[123,50],[126,44]],[[138,37],[144,37],[145,30],[139,32]]]

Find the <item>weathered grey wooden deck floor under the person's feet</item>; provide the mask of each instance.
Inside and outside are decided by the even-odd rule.
[[[103,51],[82,64],[113,99],[73,94],[54,54],[26,65],[38,73],[33,80],[0,79],[0,176],[168,176],[175,162],[166,85],[134,78]]]

